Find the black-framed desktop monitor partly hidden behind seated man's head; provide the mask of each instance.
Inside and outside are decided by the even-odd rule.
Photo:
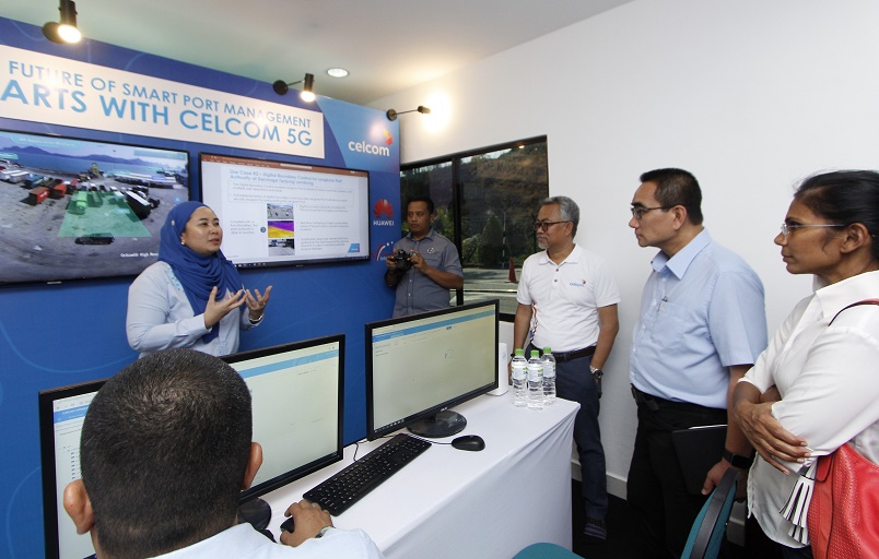
[[[344,336],[243,352],[222,359],[238,371],[253,397],[254,440],[262,466],[242,492],[247,503],[342,459]],[[94,554],[62,506],[67,485],[80,477],[80,433],[89,404],[104,380],[39,393],[43,511],[47,559]]]

